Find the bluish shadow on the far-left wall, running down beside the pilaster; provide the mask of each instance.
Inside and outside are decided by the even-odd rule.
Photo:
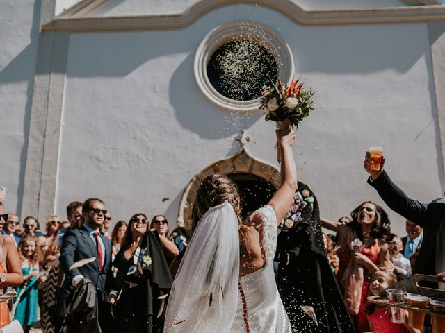
[[[17,206],[15,212],[22,211],[24,194],[24,177],[26,170],[26,154],[28,151],[28,133],[31,123],[31,106],[33,101],[35,63],[37,62],[37,50],[40,30],[40,11],[42,1],[35,0],[33,8],[33,21],[29,37],[31,42],[0,71],[0,84],[27,82],[26,105],[23,119],[24,144],[20,151],[19,179],[17,184]],[[20,22],[17,22],[20,24]]]

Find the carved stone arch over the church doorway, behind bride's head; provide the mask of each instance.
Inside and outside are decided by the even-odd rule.
[[[245,146],[242,146],[235,155],[212,162],[188,182],[179,204],[177,219],[179,226],[192,227],[193,205],[195,204],[197,190],[200,187],[201,181],[213,173],[221,173],[223,175],[249,173],[266,180],[275,188],[278,188],[280,185],[280,171],[272,165],[252,157]]]

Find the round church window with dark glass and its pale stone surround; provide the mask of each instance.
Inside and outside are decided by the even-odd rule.
[[[257,112],[259,88],[291,77],[291,49],[261,24],[236,22],[213,29],[196,51],[195,78],[204,96],[219,108]]]

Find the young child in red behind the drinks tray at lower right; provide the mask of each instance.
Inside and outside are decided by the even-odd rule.
[[[375,271],[369,284],[369,296],[378,296],[380,291],[387,289],[397,282],[396,275],[389,271]],[[375,304],[368,305],[364,310],[366,318],[368,318],[369,327],[373,333],[421,333],[420,330],[408,327],[405,324],[395,324],[391,321],[390,309],[378,307]],[[407,311],[405,311],[407,316]]]

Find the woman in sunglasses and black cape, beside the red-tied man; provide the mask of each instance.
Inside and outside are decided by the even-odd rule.
[[[156,231],[147,231],[147,224],[145,214],[131,216],[124,243],[113,263],[118,268],[116,286],[120,293],[115,309],[116,332],[162,331],[163,317],[157,316],[161,283],[156,278],[165,280],[167,274],[168,280],[170,272],[162,253],[161,237]]]

